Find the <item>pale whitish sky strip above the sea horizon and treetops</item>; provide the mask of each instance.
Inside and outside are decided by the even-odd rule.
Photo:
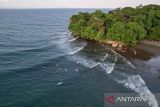
[[[159,4],[160,0],[0,0],[0,8],[119,8]]]

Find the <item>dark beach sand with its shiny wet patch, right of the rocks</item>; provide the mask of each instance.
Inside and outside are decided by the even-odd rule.
[[[140,43],[133,51],[118,52],[136,67],[138,73],[145,75],[148,81],[160,81],[160,47],[153,44]],[[145,72],[145,74],[144,74]]]

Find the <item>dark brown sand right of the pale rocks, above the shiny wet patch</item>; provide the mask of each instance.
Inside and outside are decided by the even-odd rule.
[[[122,46],[122,48],[113,47],[110,44],[104,43],[107,47],[115,50],[122,56],[134,60],[148,61],[153,57],[160,55],[160,42],[141,41],[134,47]]]

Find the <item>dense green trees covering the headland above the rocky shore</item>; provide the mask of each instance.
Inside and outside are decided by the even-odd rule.
[[[70,18],[69,29],[74,36],[126,45],[138,41],[160,40],[160,5],[118,8],[108,13],[78,13]]]

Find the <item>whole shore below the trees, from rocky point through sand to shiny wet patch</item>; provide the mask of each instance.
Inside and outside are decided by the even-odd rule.
[[[102,44],[105,47],[115,50],[127,58],[135,66],[135,72],[141,76],[145,76],[146,81],[149,83],[150,79],[159,81],[160,66],[158,65],[160,63],[160,42],[144,40],[138,42],[136,46],[127,46],[121,42],[110,40],[90,40],[82,37],[79,37],[79,39],[91,41],[95,44]],[[153,83],[151,82],[151,84]]]

